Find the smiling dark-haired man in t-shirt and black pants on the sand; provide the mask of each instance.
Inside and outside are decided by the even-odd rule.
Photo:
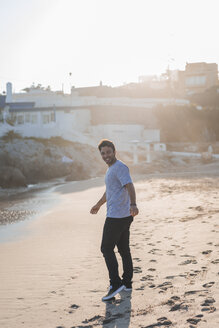
[[[107,203],[107,217],[103,228],[101,252],[109,271],[110,289],[103,301],[112,299],[121,290],[132,290],[133,264],[129,248],[129,228],[138,214],[135,188],[128,167],[117,160],[112,141],[103,139],[98,145],[103,160],[108,165],[105,176],[106,191],[90,213],[96,214]],[[122,257],[123,276],[118,273],[118,262],[114,253],[117,246]]]

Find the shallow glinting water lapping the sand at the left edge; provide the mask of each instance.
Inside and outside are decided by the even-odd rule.
[[[19,190],[4,190],[4,195],[0,197],[0,243],[25,234],[30,220],[57,204],[59,196],[53,190],[62,183],[63,179],[59,179]]]

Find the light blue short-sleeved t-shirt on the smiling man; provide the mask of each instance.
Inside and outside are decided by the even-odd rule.
[[[130,216],[130,197],[125,188],[132,183],[129,168],[120,160],[109,166],[106,176],[107,217],[124,218]]]

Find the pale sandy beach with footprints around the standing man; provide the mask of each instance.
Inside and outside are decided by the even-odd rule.
[[[0,243],[0,326],[219,327],[217,172],[134,176],[133,291],[107,303],[105,207],[89,213],[104,179],[56,187],[57,204]]]

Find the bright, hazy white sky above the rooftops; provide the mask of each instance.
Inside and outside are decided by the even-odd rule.
[[[118,86],[219,64],[219,0],[0,0],[0,92]]]

